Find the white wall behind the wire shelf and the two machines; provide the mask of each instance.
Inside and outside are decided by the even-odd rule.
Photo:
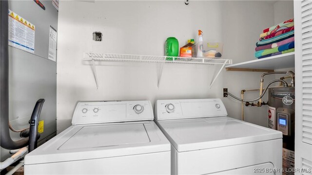
[[[219,67],[166,64],[157,89],[159,64],[102,62],[97,89],[82,53],[163,55],[167,37],[175,36],[182,46],[201,29],[204,40],[224,42],[224,58],[238,63],[255,59],[255,42],[274,24],[273,16],[267,1],[191,1],[189,6],[183,1],[60,1],[58,132],[71,125],[77,101],[221,98],[229,116],[240,119],[240,104],[222,98],[222,88],[240,96],[241,89],[258,88],[261,73],[222,70],[209,89]],[[92,41],[95,31],[103,33],[103,42]],[[246,121],[267,125],[266,107],[246,110]]]

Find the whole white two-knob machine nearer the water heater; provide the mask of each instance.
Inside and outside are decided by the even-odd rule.
[[[220,99],[158,100],[171,174],[281,174],[282,133],[227,117]]]

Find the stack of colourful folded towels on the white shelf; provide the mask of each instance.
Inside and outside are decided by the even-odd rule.
[[[265,58],[290,52],[294,52],[293,19],[264,29],[256,43],[254,56]]]

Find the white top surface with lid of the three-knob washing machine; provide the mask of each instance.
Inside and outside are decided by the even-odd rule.
[[[25,164],[170,151],[153,121],[72,125],[27,154]]]

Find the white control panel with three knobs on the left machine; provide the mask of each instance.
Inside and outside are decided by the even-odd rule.
[[[153,120],[150,101],[78,102],[72,124]]]

